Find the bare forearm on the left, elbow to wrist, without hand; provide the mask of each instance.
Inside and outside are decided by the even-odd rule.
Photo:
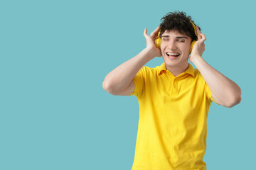
[[[103,81],[103,89],[107,91],[120,92],[127,88],[137,72],[150,60],[155,57],[153,51],[145,48],[132,59],[119,65],[107,74]]]

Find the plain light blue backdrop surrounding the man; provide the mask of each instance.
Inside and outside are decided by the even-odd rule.
[[[144,28],[150,34],[170,11],[192,16],[207,38],[203,58],[242,89],[238,106],[210,107],[208,170],[253,169],[254,7],[249,0],[1,1],[0,169],[132,169],[139,103],[108,94],[102,82],[146,47]]]

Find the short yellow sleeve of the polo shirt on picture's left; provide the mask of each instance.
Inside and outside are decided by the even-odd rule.
[[[137,72],[135,77],[132,79],[134,81],[135,89],[132,94],[129,96],[136,96],[137,98],[140,98],[142,96],[142,92],[144,89],[144,83],[145,83],[145,76],[146,76],[146,67],[143,66],[142,69]]]

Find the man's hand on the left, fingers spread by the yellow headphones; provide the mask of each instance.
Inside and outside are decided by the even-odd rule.
[[[161,57],[161,50],[156,47],[155,45],[155,40],[157,38],[157,35],[159,33],[159,30],[160,28],[156,28],[152,33],[151,35],[147,35],[147,29],[145,28],[144,30],[144,37],[146,38],[146,48],[149,49],[149,50],[153,50],[154,51],[154,54],[155,54],[155,57]]]

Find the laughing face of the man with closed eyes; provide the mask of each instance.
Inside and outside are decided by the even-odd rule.
[[[161,55],[166,67],[187,66],[190,48],[191,38],[178,31],[166,30],[161,36]]]

